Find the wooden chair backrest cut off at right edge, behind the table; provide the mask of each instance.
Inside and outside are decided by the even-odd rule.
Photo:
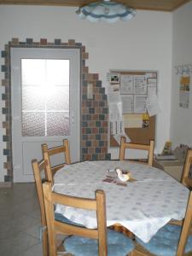
[[[184,186],[187,186],[189,188],[192,188],[192,178],[189,177],[191,163],[192,163],[192,149],[189,149],[184,162],[183,174],[181,178],[181,183],[183,183]]]

